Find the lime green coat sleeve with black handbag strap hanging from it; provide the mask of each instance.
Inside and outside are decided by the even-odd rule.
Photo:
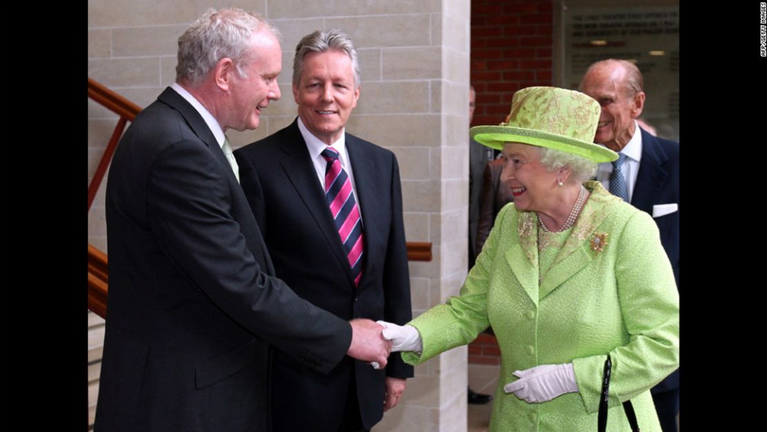
[[[650,215],[631,216],[617,247],[617,295],[629,341],[610,351],[610,406],[649,390],[679,365],[679,294]],[[589,413],[599,406],[606,359],[594,355],[573,360]]]

